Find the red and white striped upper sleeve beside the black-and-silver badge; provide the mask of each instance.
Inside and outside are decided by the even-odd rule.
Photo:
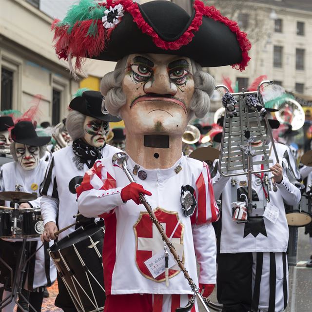
[[[215,222],[219,218],[219,209],[215,202],[214,189],[208,165],[203,163],[203,169],[195,182],[195,198],[197,207],[191,217],[192,224]]]

